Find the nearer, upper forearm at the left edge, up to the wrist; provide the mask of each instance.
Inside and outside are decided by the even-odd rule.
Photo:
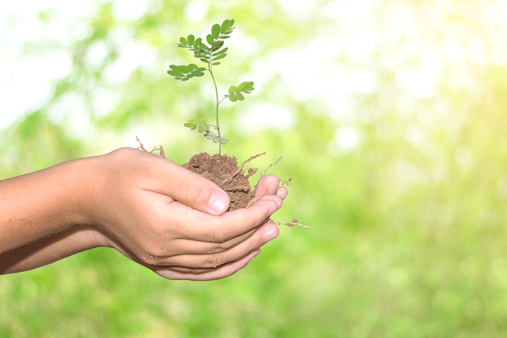
[[[83,160],[0,181],[0,255],[86,223]]]

